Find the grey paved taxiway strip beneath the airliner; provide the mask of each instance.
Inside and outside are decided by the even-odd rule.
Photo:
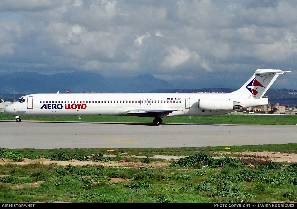
[[[297,143],[297,125],[0,120],[0,148],[204,147]]]

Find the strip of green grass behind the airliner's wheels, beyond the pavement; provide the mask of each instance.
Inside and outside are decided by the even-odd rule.
[[[81,117],[22,117],[22,120],[55,120],[55,121],[88,121],[88,122],[141,122],[152,123],[153,118],[133,116],[89,116]],[[15,120],[14,116],[0,113],[0,120]],[[204,123],[204,124],[251,124],[251,125],[295,125],[297,115],[247,115],[224,114],[214,116],[192,117],[165,117],[164,123]]]

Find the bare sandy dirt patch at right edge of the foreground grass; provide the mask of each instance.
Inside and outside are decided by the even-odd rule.
[[[259,157],[269,157],[274,162],[296,163],[297,154],[295,153],[274,153],[274,152],[236,152],[236,155],[255,155]]]

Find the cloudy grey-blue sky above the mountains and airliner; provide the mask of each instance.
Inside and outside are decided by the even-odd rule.
[[[294,72],[272,88],[297,89],[296,11],[292,0],[1,0],[0,75],[149,73],[232,88],[278,68]]]

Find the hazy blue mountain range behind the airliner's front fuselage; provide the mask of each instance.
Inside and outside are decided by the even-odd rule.
[[[150,74],[135,77],[105,78],[98,73],[74,72],[42,75],[14,72],[0,76],[0,94],[31,94],[72,92],[148,92],[156,89],[172,89],[167,81]]]

